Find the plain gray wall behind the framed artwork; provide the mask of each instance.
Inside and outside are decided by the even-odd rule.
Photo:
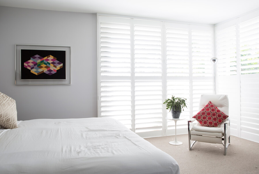
[[[0,6],[0,91],[18,120],[97,117],[96,14]],[[71,46],[71,85],[18,85],[15,44]]]

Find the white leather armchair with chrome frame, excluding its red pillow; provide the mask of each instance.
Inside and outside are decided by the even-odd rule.
[[[199,102],[199,111],[211,101],[220,111],[228,115],[228,96],[220,94],[203,94],[201,95]],[[217,143],[224,145],[224,155],[230,144],[230,120],[229,117],[226,118],[217,127],[206,127],[202,126],[199,122],[190,128],[190,122],[194,122],[196,119],[188,121],[188,138],[189,138],[189,150],[192,149],[196,141],[206,142],[206,143]],[[228,139],[228,143],[227,143]],[[191,140],[194,141],[191,144]],[[222,141],[224,140],[224,143]]]

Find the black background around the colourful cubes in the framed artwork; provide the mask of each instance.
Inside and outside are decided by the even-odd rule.
[[[63,63],[63,67],[58,69],[56,73],[48,75],[46,73],[41,73],[39,75],[31,73],[30,69],[24,67],[24,62],[31,60],[31,57],[35,55],[41,57],[46,57],[52,55],[57,58],[58,61]],[[50,79],[66,79],[66,51],[63,50],[25,50],[21,49],[21,80],[50,80]]]

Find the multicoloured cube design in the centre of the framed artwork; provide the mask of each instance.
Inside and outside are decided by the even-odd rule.
[[[38,54],[31,57],[31,60],[24,62],[24,67],[31,70],[31,73],[39,75],[41,73],[46,73],[52,75],[63,67],[63,63],[57,60],[56,57],[48,55],[46,57],[41,57]]]

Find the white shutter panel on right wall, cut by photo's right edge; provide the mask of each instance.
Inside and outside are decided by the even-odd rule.
[[[259,140],[259,16],[240,19],[241,138]]]

